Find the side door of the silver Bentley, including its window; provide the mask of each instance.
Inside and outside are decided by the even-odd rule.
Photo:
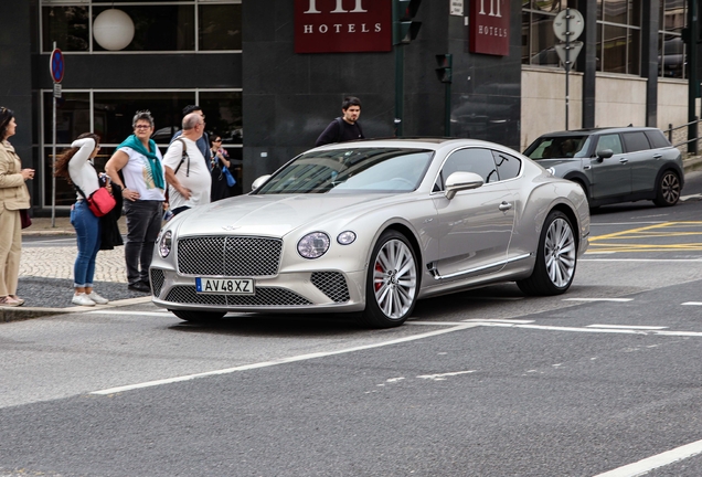
[[[454,151],[444,162],[436,189],[453,172],[475,172],[485,184],[460,191],[448,200],[435,197],[439,221],[438,276],[460,279],[497,272],[504,266],[514,226],[513,198],[499,180],[492,151],[467,148]]]

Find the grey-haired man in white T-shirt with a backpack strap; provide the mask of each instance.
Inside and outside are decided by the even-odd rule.
[[[170,210],[173,215],[210,203],[212,179],[205,159],[198,148],[204,132],[204,120],[196,113],[183,118],[183,132],[163,156]]]

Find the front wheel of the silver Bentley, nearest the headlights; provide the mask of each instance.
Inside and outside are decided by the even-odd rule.
[[[418,290],[417,257],[410,241],[398,232],[384,232],[371,254],[361,324],[371,328],[404,324],[414,310]]]

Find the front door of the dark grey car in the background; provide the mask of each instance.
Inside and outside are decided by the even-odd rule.
[[[618,134],[599,136],[595,151],[611,149],[610,158],[591,159],[593,173],[592,195],[603,199],[611,195],[628,195],[631,193],[631,166],[621,145]]]

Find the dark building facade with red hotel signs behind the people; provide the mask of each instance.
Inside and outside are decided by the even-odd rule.
[[[140,109],[153,114],[163,150],[182,108],[199,104],[208,131],[243,162],[238,183],[247,191],[312,147],[347,95],[362,100],[366,137],[395,135],[401,119],[404,136],[448,134],[521,150],[564,129],[566,75],[553,20],[566,8],[585,23],[567,76],[571,129],[683,124],[687,3],[424,0],[412,19],[422,22],[416,39],[393,46],[392,0],[13,0],[0,6],[0,105],[15,112],[12,142],[39,172],[35,213],[54,200],[67,211],[74,198],[51,174],[54,42],[65,65],[59,151],[95,131],[102,168]],[[451,83],[436,74],[445,54]]]

